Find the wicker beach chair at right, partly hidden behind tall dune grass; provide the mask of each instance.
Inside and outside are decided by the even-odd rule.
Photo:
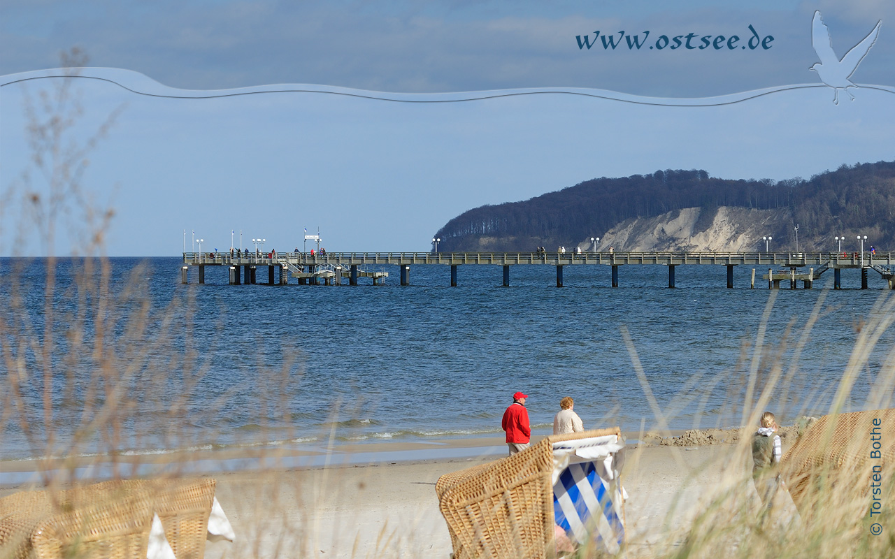
[[[879,434],[875,441],[874,433]],[[840,482],[846,491],[859,496],[870,489],[870,483],[864,481],[873,477],[874,466],[887,472],[887,478],[891,476],[895,409],[823,416],[783,457],[782,476],[799,512],[805,514],[811,511],[824,479],[831,485]]]

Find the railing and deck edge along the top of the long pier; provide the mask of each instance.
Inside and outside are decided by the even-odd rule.
[[[354,265],[719,265],[755,267],[872,267],[892,265],[892,253],[860,252],[184,252],[183,263],[197,266]]]

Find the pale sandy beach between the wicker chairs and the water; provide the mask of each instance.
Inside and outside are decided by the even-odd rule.
[[[678,434],[677,441],[692,439]],[[628,445],[623,480],[629,494],[626,539],[632,555],[652,555],[652,546],[668,542],[666,531],[685,526],[698,510],[700,495],[720,480],[719,464],[729,462],[736,448],[715,443]],[[499,459],[505,448],[499,437],[342,445],[336,456],[329,455],[327,467],[217,471],[209,475],[217,479],[217,499],[236,538],[209,541],[205,556],[447,558],[451,544],[439,512],[436,481],[448,472]],[[433,453],[462,456],[401,460]],[[313,456],[309,450],[278,453],[275,458],[267,455],[267,463],[288,466]],[[205,453],[194,458],[226,464],[259,456]],[[13,468],[27,469],[16,463],[4,463],[4,475]],[[745,471],[748,464],[744,461],[742,467]],[[7,485],[0,495],[30,487]]]

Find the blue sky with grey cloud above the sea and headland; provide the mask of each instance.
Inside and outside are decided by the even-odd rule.
[[[882,21],[854,101],[834,105],[808,70],[815,10],[839,56]],[[466,209],[595,177],[780,180],[891,160],[890,21],[895,5],[875,0],[7,1],[0,254],[82,253],[105,208],[112,256],[198,250],[193,232],[202,250],[228,250],[231,234],[239,247],[241,231],[243,247],[301,249],[304,228],[330,252],[426,251]],[[770,48],[742,48],[750,25]],[[598,30],[650,34],[641,49],[579,47]],[[647,47],[688,33],[725,41]],[[40,71],[72,47],[89,68],[70,82],[61,153],[84,148],[89,165],[57,208],[29,125],[64,82]],[[755,89],[767,91],[742,95]]]

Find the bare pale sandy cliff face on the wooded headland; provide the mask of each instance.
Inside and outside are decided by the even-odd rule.
[[[627,219],[602,236],[597,250],[763,250],[762,237],[785,230],[789,221],[787,209],[685,208],[657,217]],[[586,239],[578,246],[590,250],[592,245]]]

